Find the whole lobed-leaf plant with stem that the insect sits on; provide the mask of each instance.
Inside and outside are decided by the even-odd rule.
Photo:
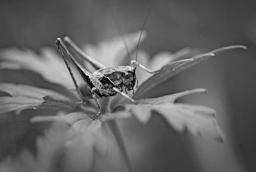
[[[131,51],[136,47],[138,33],[134,32],[125,36]],[[24,149],[16,159],[6,158],[0,169],[3,171],[17,171],[18,169],[19,171],[38,171],[37,169],[40,171],[73,171],[72,168],[75,168],[77,171],[92,171],[95,165],[93,158],[95,154],[106,154],[108,145],[111,144],[111,137],[105,125],[107,124],[116,138],[127,168],[131,171],[131,162],[116,123],[118,118],[135,117],[142,124],[147,124],[152,115],[159,115],[164,118],[166,124],[179,133],[188,131],[191,134],[207,136],[222,142],[223,134],[217,125],[214,110],[205,106],[175,102],[182,96],[206,92],[205,89],[188,90],[155,98],[145,97],[147,97],[147,92],[181,71],[213,57],[218,52],[234,48],[245,47],[241,45],[224,47],[200,54],[198,54],[198,49],[186,48],[174,54],[169,52],[157,54],[156,57],[145,62],[149,64],[149,67],[157,68],[159,72],[152,76],[137,74],[139,80],[143,81],[133,96],[138,103],[123,101],[118,96],[106,98],[103,101],[108,102],[109,106],[104,106],[105,113],[96,120],[90,118],[97,112],[95,104],[90,100],[86,106],[82,106],[77,101],[79,98],[74,92],[74,84],[70,80],[65,64],[51,48],[44,49],[41,54],[17,48],[3,50],[0,54],[0,69],[38,73],[45,82],[67,88],[69,95],[72,94],[72,96],[63,95],[63,92],[58,89],[46,89],[44,85],[40,88],[31,85],[0,83],[0,90],[3,92],[3,96],[0,97],[2,115],[16,111],[22,116],[29,109],[33,109],[33,115],[29,117],[31,124],[51,123],[51,127],[45,130],[44,136],[36,138],[37,154],[35,157],[29,150]],[[97,57],[97,60],[108,67],[121,65],[121,62],[127,61],[126,54],[124,54],[125,46],[120,38],[103,41],[98,46],[87,45],[84,49],[90,56]],[[144,57],[140,59],[140,55]],[[139,60],[143,61],[143,59],[149,58],[140,51]],[[36,110],[49,109],[57,110],[57,112],[54,115],[36,112]],[[5,139],[3,137],[1,136],[1,140]]]

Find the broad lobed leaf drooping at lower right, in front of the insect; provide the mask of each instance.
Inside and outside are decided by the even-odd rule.
[[[113,120],[114,117],[127,118],[133,115],[141,123],[147,124],[151,115],[157,114],[161,115],[168,125],[180,133],[188,131],[191,134],[208,136],[222,142],[223,134],[216,123],[214,110],[205,106],[174,104],[179,97],[197,92],[205,92],[205,89],[188,90],[152,99],[141,99],[138,104],[124,104],[122,107],[125,108],[125,111],[116,111],[105,120]],[[130,115],[127,115],[127,111]]]

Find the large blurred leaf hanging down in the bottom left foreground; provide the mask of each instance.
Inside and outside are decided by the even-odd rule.
[[[81,116],[70,113],[69,117]],[[43,122],[43,121],[41,121]],[[68,126],[58,120],[52,123],[44,136],[36,140],[37,154],[24,150],[15,159],[6,159],[0,164],[4,171],[91,171],[94,154],[106,154],[108,140],[100,120],[83,115],[83,120]]]

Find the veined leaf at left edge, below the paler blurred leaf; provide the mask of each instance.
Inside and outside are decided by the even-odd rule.
[[[0,97],[0,113],[24,109],[38,108],[74,108],[75,103],[68,101],[68,98],[52,90],[41,89],[29,85],[16,85],[13,83],[0,83],[0,91],[10,96]],[[54,102],[43,99],[44,96],[52,96],[63,101]],[[64,101],[65,100],[65,101]]]

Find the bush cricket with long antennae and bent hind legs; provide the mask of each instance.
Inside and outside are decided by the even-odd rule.
[[[151,10],[152,4],[150,6]],[[150,10],[148,10],[147,17],[143,23],[143,27],[141,29],[140,38],[138,40],[137,50],[136,50],[136,60],[131,60],[130,66],[113,66],[110,68],[106,68],[104,65],[100,64],[100,62],[95,61],[92,57],[89,55],[86,55],[81,49],[77,47],[77,45],[67,36],[63,39],[57,38],[56,39],[56,46],[61,54],[61,57],[63,58],[63,61],[65,62],[68,71],[70,73],[70,76],[72,77],[72,80],[74,82],[74,85],[76,86],[76,90],[81,97],[83,104],[86,102],[86,97],[81,92],[81,89],[79,89],[79,86],[76,82],[76,79],[74,78],[74,75],[72,73],[72,69],[70,68],[68,64],[69,61],[74,64],[79,74],[82,76],[83,80],[87,85],[90,87],[90,91],[92,93],[93,99],[95,99],[95,102],[97,104],[99,112],[97,115],[93,115],[92,118],[95,119],[99,117],[99,115],[102,113],[102,110],[100,108],[99,101],[97,100],[98,97],[108,97],[108,96],[115,96],[116,94],[121,94],[122,96],[126,97],[131,101],[132,103],[136,103],[134,99],[129,97],[127,95],[127,91],[132,90],[132,94],[134,94],[134,86],[138,86],[138,79],[136,78],[136,68],[137,66],[141,69],[144,69],[148,73],[157,73],[158,71],[150,71],[150,69],[146,68],[142,64],[139,64],[137,61],[138,57],[138,47],[140,44],[140,39],[143,33],[143,29],[145,27],[145,24],[147,22],[147,18],[149,15]],[[67,47],[66,47],[67,45]],[[125,44],[125,47],[127,48],[127,45]],[[76,54],[83,57],[83,59],[96,69],[94,73],[90,73],[88,70],[86,70],[79,62],[77,62],[76,58],[73,57],[73,55],[70,53],[70,50],[68,48],[74,50]],[[128,49],[128,48],[127,48]],[[127,54],[129,55],[129,51],[127,50]],[[66,59],[67,58],[67,59]],[[125,91],[125,93],[123,92]]]

